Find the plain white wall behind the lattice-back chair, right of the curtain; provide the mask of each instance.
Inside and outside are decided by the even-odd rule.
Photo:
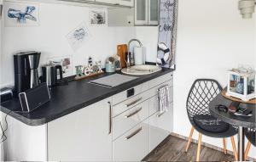
[[[178,3],[174,131],[189,136],[191,125],[185,103],[193,81],[212,78],[224,87],[227,70],[238,64],[256,68],[253,33],[256,15],[254,19],[242,20],[237,0],[179,0]],[[202,137],[202,140],[222,147],[221,139]],[[255,151],[251,149],[250,156],[256,158]]]

